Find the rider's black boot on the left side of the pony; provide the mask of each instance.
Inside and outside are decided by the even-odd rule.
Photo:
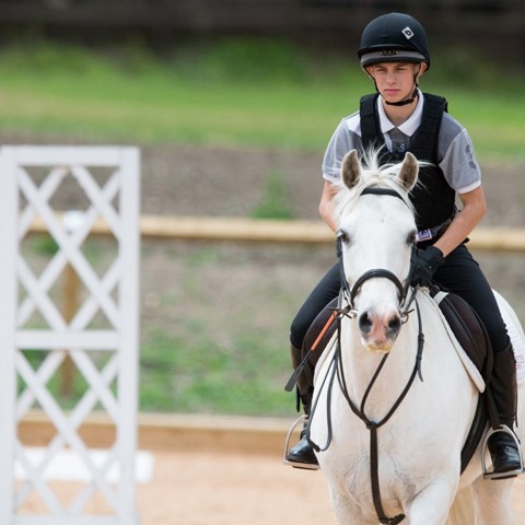
[[[292,355],[292,364],[294,370],[299,366],[302,361],[301,350],[295,348],[293,345],[290,348]],[[312,398],[314,396],[314,368],[310,362],[304,366],[303,372],[298,377],[298,394],[301,404],[303,405],[304,413],[310,416],[310,409],[312,407]],[[298,411],[299,411],[299,401],[298,401]],[[301,431],[301,440],[295,446],[290,448],[287,460],[290,463],[298,464],[298,467],[302,468],[318,468],[317,457],[315,456],[312,445],[306,440],[306,424],[304,423],[303,430]]]

